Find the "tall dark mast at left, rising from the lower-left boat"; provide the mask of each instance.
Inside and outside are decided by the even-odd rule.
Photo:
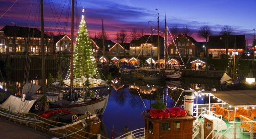
[[[43,0],[40,0],[40,13],[41,13],[41,55],[42,55],[42,87],[44,99],[46,99],[46,79],[45,79],[45,47],[44,47],[44,12]]]

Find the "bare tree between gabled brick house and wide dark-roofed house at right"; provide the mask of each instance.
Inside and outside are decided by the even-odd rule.
[[[201,38],[205,38],[205,56],[207,56],[207,48],[208,48],[208,38],[212,34],[211,28],[208,25],[204,25],[200,27],[198,32],[198,36]]]

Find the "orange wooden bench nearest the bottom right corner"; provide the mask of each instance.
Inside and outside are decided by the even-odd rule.
[[[240,127],[243,128],[243,130],[246,130],[249,133],[256,133],[256,122],[253,122],[253,120],[250,120],[249,118],[243,115],[239,115],[239,118],[241,122],[246,122],[246,123],[241,123],[240,125]]]

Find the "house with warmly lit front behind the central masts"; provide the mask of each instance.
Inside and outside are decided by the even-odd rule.
[[[152,43],[153,41],[153,43]],[[151,39],[150,35],[144,35],[137,40],[132,40],[130,43],[130,56],[158,56],[158,35],[153,35]],[[159,36],[159,47],[160,47],[160,56],[164,55],[164,38]],[[151,51],[152,47],[152,51]]]

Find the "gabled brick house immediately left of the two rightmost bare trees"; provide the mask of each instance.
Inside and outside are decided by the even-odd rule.
[[[176,46],[175,46],[176,44]],[[184,34],[179,34],[174,40],[168,44],[168,55],[169,56],[179,56],[181,57],[198,57],[202,49],[197,41]]]

